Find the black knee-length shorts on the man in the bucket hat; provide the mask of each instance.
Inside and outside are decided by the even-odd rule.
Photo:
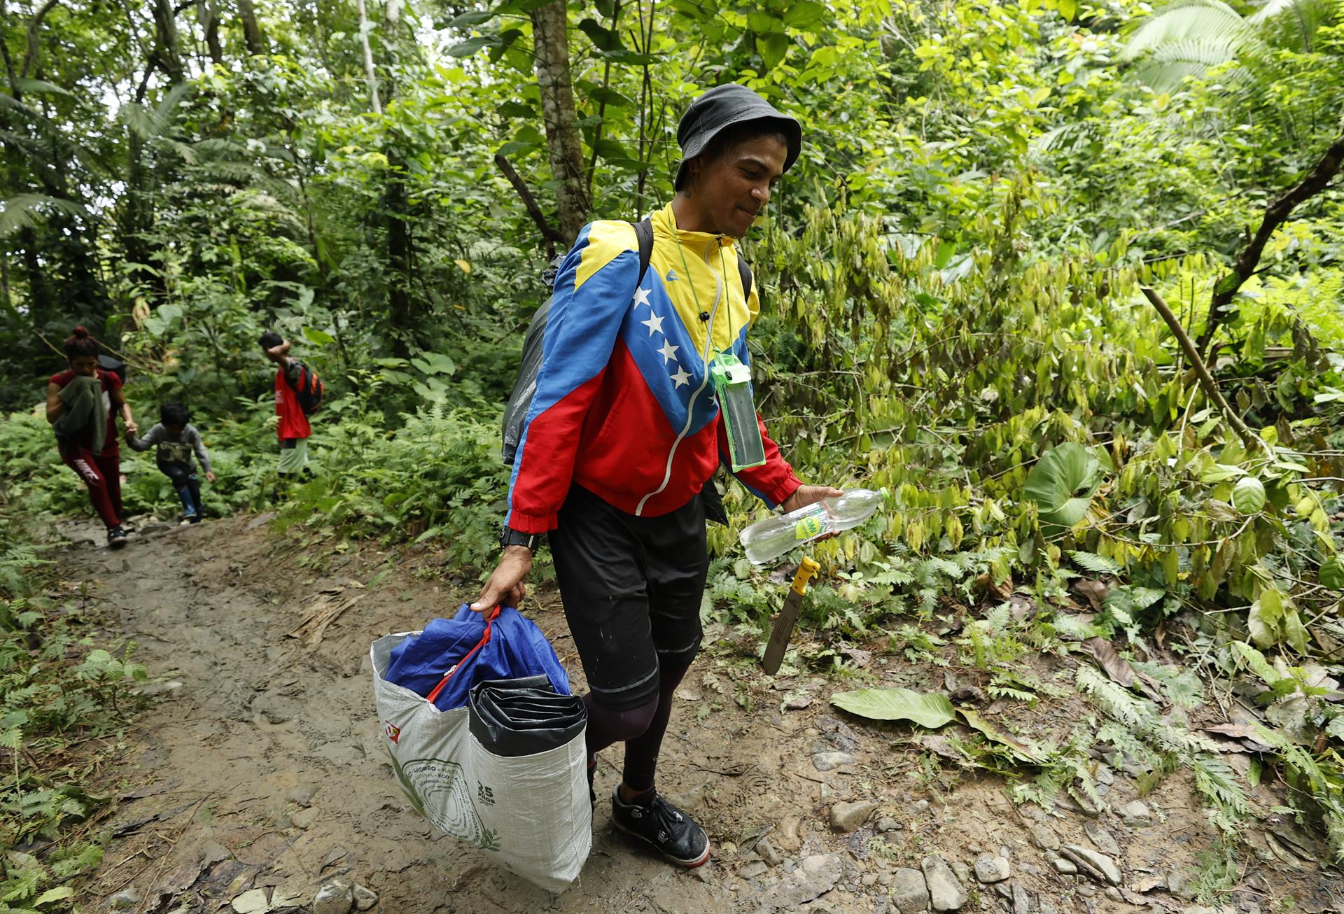
[[[551,554],[594,702],[613,711],[645,704],[657,695],[660,661],[695,659],[710,570],[699,497],[636,517],[575,485],[551,531]]]

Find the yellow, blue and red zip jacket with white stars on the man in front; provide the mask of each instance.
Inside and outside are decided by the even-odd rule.
[[[585,226],[555,277],[509,483],[505,523],[519,532],[554,530],[571,483],[652,517],[684,505],[720,460],[728,462],[708,366],[728,351],[749,364],[747,329],[761,302],[754,288],[750,301],[742,298],[731,238],[677,230],[671,204],[652,222],[638,289],[638,242],[628,222]],[[765,423],[761,434],[766,462],[737,477],[774,507],[800,481]]]

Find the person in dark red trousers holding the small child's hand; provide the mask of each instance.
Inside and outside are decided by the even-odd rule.
[[[89,331],[77,327],[65,343],[70,367],[51,375],[47,380],[47,422],[55,425],[66,413],[60,391],[75,378],[97,378],[102,383],[103,410],[108,414],[108,429],[102,448],[94,453],[97,440],[94,427],[86,426],[74,434],[56,438],[60,460],[73,469],[89,487],[89,500],[94,511],[108,527],[108,546],[121,548],[126,544],[126,532],[121,526],[121,449],[117,445],[117,413],[126,431],[138,431],[130,415],[130,405],[121,394],[121,378],[98,367],[98,341]]]

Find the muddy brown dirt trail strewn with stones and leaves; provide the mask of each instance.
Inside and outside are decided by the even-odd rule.
[[[1176,894],[1180,878],[1169,871],[1195,874],[1214,844],[1180,774],[1145,797],[1152,825],[1126,825],[1109,811],[1048,817],[1012,804],[1001,778],[966,774],[945,784],[921,774],[927,746],[909,731],[837,719],[827,702],[835,683],[771,683],[731,651],[710,649],[679,692],[660,786],[704,824],[715,858],[679,872],[614,833],[599,802],[581,880],[551,895],[435,836],[396,788],[379,742],[368,644],[449,614],[452,597],[464,594],[435,583],[427,554],[398,556],[401,565],[366,589],[360,582],[387,552],[366,547],[364,555],[304,562],[282,544],[263,517],[242,517],[148,530],[120,552],[91,542],[66,551],[63,575],[90,579],[112,633],[140,645],[136,656],[159,680],[160,699],[126,734],[125,755],[109,773],[109,790],[124,801],[108,823],[114,837],[82,910],[228,910],[253,888],[263,890],[245,897],[261,901],[254,910],[309,910],[316,890],[341,875],[378,894],[374,910],[398,914],[880,914],[915,910],[911,879],[919,882],[930,854],[958,871],[962,910],[1138,910],[1126,898],[1183,910],[1191,902]],[[579,673],[554,599],[528,612]],[[298,628],[301,637],[290,637]],[[876,657],[872,672],[876,683],[926,687],[931,677],[941,687],[943,675],[896,657]],[[599,796],[618,761],[606,753]],[[1117,809],[1134,788],[1106,770]],[[837,832],[828,816],[849,801],[876,808],[857,831]],[[1103,851],[1110,839],[1121,884],[1107,895],[1105,882],[1059,874],[1042,839]],[[1269,911],[1288,897],[1296,910],[1340,910],[1333,878],[1309,860],[1289,866],[1271,849],[1273,863],[1246,860],[1227,911]],[[982,884],[966,868],[982,854],[1007,854],[1011,878]]]

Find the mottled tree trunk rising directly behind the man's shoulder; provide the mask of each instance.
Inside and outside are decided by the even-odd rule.
[[[532,11],[536,82],[542,89],[546,145],[555,177],[555,202],[564,243],[573,245],[587,222],[589,199],[583,180],[583,142],[574,108],[570,77],[569,19],[564,0],[550,0]]]

